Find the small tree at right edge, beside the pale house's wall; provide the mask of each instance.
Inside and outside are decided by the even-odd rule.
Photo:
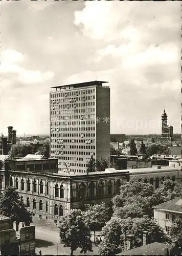
[[[177,240],[182,245],[182,216],[180,215],[173,223],[170,229],[172,240]]]

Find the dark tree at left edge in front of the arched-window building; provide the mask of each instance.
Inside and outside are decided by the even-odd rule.
[[[27,210],[27,205],[20,200],[18,192],[12,186],[6,186],[0,197],[0,214],[10,217],[17,224],[25,222],[26,225],[30,225],[32,222],[31,212]]]

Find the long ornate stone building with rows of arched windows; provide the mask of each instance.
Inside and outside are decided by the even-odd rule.
[[[167,178],[180,183],[179,167],[109,168],[105,172],[75,175],[0,170],[0,189],[3,193],[6,185],[16,187],[34,216],[56,223],[69,209],[84,209],[86,203],[105,202],[109,206],[113,196],[119,194],[120,186],[129,180],[150,182],[154,188]]]

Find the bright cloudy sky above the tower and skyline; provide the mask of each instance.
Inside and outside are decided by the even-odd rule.
[[[180,1],[1,1],[0,133],[49,134],[52,86],[108,81],[112,134],[180,133]]]

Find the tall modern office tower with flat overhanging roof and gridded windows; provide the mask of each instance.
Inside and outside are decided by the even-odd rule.
[[[110,158],[110,88],[104,81],[53,87],[50,156],[59,172],[85,173],[91,156]]]

